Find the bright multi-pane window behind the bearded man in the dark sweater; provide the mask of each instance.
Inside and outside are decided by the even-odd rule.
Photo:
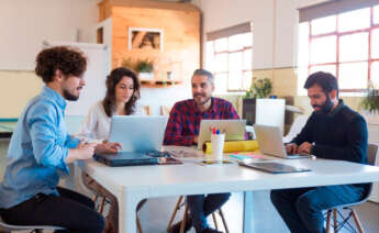
[[[379,87],[379,5],[301,22],[298,67],[299,93],[319,70],[335,75],[342,92]]]

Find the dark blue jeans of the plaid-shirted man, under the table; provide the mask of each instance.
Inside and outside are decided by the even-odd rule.
[[[187,204],[191,212],[192,225],[197,231],[208,228],[207,217],[219,210],[231,197],[231,193],[187,196]]]

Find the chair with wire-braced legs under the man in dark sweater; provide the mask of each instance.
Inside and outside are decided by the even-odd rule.
[[[367,148],[367,163],[369,165],[375,165],[376,158],[378,157],[378,144],[369,144]],[[353,225],[348,222],[348,220],[353,217],[355,225],[359,233],[364,233],[364,228],[360,224],[359,218],[357,212],[354,210],[355,206],[361,204],[367,201],[367,199],[370,197],[372,191],[372,182],[369,185],[369,188],[365,195],[365,197],[355,203],[349,204],[342,204],[337,207],[333,207],[327,210],[326,212],[326,233],[330,232],[331,229],[331,219],[333,213],[333,229],[334,233],[337,233],[342,228],[348,228],[352,232],[357,232]],[[344,210],[344,211],[341,211]],[[347,213],[343,214],[343,212],[347,211]],[[338,217],[342,220],[338,220]]]

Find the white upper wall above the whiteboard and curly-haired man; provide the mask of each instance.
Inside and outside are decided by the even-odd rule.
[[[0,70],[32,70],[42,41],[93,42],[100,0],[1,0]]]

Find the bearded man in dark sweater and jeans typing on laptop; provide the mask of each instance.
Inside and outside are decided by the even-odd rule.
[[[288,153],[367,163],[367,125],[364,118],[338,100],[336,78],[312,74],[305,81],[314,111],[300,134],[286,145]],[[359,201],[365,185],[341,185],[271,191],[271,201],[291,232],[324,232],[323,210]]]

